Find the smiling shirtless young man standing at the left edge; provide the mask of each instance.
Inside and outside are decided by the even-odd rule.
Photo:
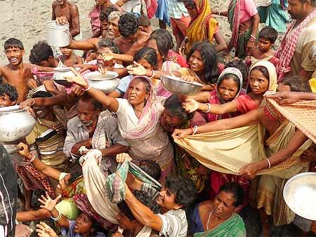
[[[27,80],[33,78],[31,73],[31,65],[23,63],[23,55],[25,53],[22,42],[18,39],[11,38],[4,43],[4,50],[9,64],[0,67],[0,77],[3,83],[16,88],[18,91],[18,102],[26,99],[29,92]]]

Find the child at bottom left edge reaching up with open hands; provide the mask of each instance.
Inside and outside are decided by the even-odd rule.
[[[62,215],[58,210],[56,210],[55,205],[58,199],[61,198],[61,195],[55,199],[51,199],[50,196],[46,193],[46,197],[41,196],[39,202],[41,208],[45,208],[51,212],[51,218],[57,222],[57,224],[62,228],[62,235],[68,237],[105,237],[105,233],[99,232],[100,226],[93,217],[88,216],[86,213],[81,212],[79,217],[75,221],[70,221],[64,215]],[[46,236],[46,233],[49,233],[50,236],[58,236],[55,231],[49,228],[49,226],[44,224],[38,224],[37,232],[39,236]],[[40,235],[41,234],[41,235]]]

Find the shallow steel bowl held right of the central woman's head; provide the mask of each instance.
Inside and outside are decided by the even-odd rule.
[[[195,95],[203,87],[201,83],[181,81],[176,76],[161,76],[160,79],[166,90],[181,95]]]

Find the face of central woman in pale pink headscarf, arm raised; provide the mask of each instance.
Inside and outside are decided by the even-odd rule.
[[[132,105],[145,102],[148,99],[146,84],[140,79],[133,80],[127,90],[127,99]]]

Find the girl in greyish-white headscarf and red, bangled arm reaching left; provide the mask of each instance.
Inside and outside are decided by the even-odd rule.
[[[234,67],[228,67],[218,77],[216,89],[204,91],[197,95],[187,97],[183,102],[183,107],[187,112],[192,113],[195,110],[206,112],[208,122],[216,121],[222,118],[231,118],[239,115],[238,113],[211,114],[211,104],[225,104],[234,100],[242,90],[242,72]]]

